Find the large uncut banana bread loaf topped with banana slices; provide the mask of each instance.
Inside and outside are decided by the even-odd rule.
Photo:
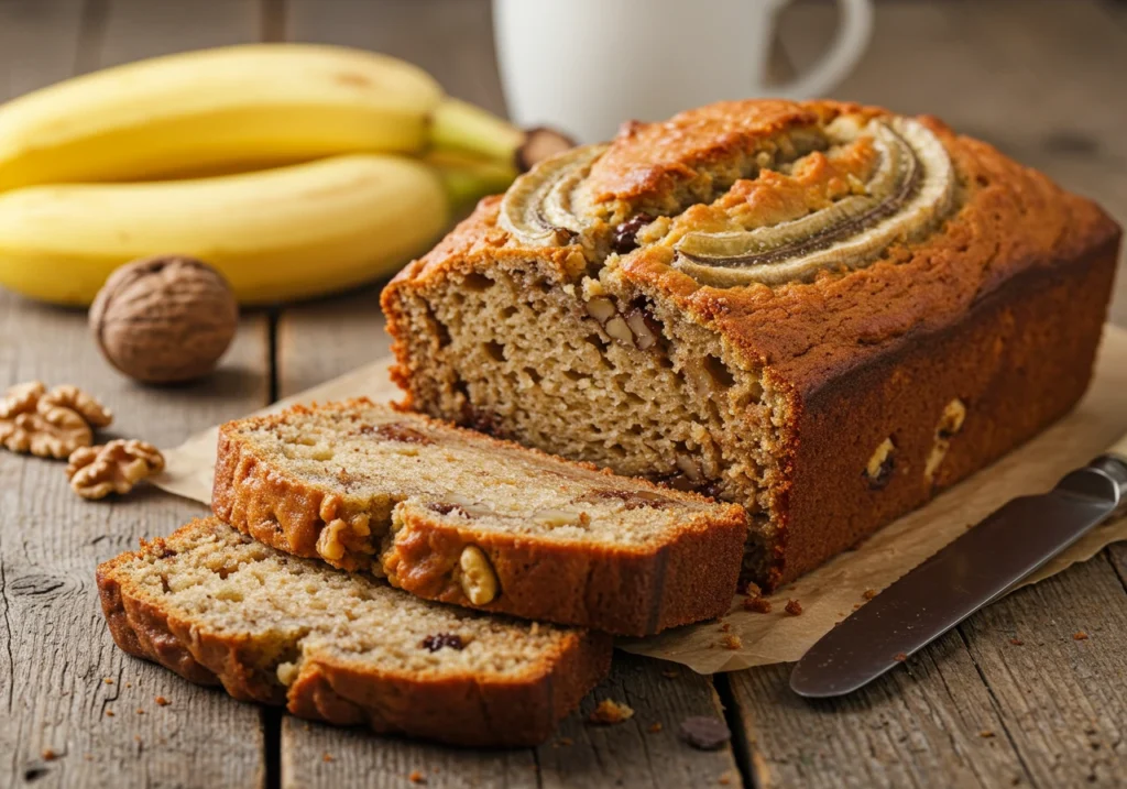
[[[739,503],[771,588],[1066,413],[1118,243],[935,118],[736,101],[543,162],[382,303],[407,407]]]

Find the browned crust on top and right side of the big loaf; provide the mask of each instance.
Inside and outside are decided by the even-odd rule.
[[[833,101],[737,101],[630,124],[592,166],[585,188],[603,216],[618,221],[760,147],[841,115],[887,113]],[[955,207],[930,232],[894,243],[871,265],[823,271],[810,282],[716,287],[676,268],[675,250],[657,241],[612,256],[601,272],[622,301],[642,295],[708,329],[735,366],[760,373],[786,402],[770,491],[772,555],[757,578],[765,586],[816,567],[1029,438],[1079,399],[1090,376],[1117,257],[1116,223],[991,145],[937,118],[916,119],[950,156]],[[814,175],[825,176],[818,188],[831,186],[834,174]],[[780,205],[793,197],[784,194],[792,184],[782,176],[740,184],[727,202],[687,211],[681,205],[673,222],[711,221],[738,204],[771,224],[770,218],[793,209]],[[760,188],[749,186],[755,184]],[[611,211],[611,204],[619,207]],[[482,202],[384,291],[393,376],[408,407],[441,410],[429,391],[415,389],[424,376],[412,374],[407,335],[412,294],[426,298],[456,287],[462,272],[514,261],[539,266],[549,283],[567,280],[559,260],[571,247],[522,246],[498,215],[497,200]],[[995,353],[992,333],[1008,338],[1004,353]],[[900,398],[895,408],[886,389]],[[951,441],[935,485],[925,485],[935,420],[955,397],[974,400],[967,425]],[[859,470],[890,433],[903,434],[897,454],[911,480],[894,478],[879,491],[859,487]]]

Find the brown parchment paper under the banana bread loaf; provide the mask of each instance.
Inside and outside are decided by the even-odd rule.
[[[258,413],[279,410],[294,402],[360,396],[376,401],[397,399],[399,390],[388,380],[389,364],[389,360],[375,362]],[[769,599],[770,613],[745,611],[744,599],[737,596],[722,620],[727,632],[721,631],[720,622],[706,622],[653,638],[621,640],[618,646],[682,663],[702,674],[797,661],[849,615],[854,605],[866,602],[866,591],[889,585],[1011,498],[1051,488],[1066,472],[1085,464],[1124,433],[1127,433],[1127,331],[1108,326],[1095,378],[1072,414],[928,506],[885,526],[857,550],[842,553],[780,589]],[[213,427],[175,450],[167,450],[167,468],[156,484],[170,493],[208,503],[216,434],[218,427]],[[1093,530],[1022,585],[1086,561],[1117,540],[1127,540],[1127,517]],[[800,615],[786,613],[789,600],[801,603]],[[726,639],[728,636],[736,636],[742,646],[735,649],[725,646],[726,640],[731,644]]]

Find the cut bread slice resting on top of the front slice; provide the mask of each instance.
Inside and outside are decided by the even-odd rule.
[[[367,400],[220,431],[215,514],[431,600],[644,636],[727,611],[746,515]]]

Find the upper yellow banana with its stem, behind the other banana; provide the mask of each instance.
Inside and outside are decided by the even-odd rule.
[[[526,142],[396,57],[246,44],[106,69],[0,106],[0,192],[421,153],[432,144],[527,163]]]

